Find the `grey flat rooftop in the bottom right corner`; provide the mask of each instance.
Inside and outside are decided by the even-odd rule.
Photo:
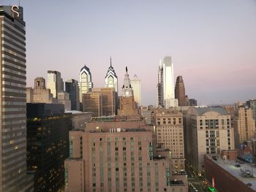
[[[208,156],[208,158],[211,158]],[[226,172],[229,172],[234,177],[236,177],[238,180],[241,180],[244,184],[252,183],[252,188],[254,191],[256,191],[256,168],[255,166],[252,166],[252,164],[244,163],[239,164],[236,161],[231,160],[222,160],[221,158],[217,158],[217,161],[211,158],[214,163],[222,167],[222,169],[225,169]],[[240,167],[236,167],[235,165],[239,164]],[[253,177],[243,177],[243,172],[252,172]]]

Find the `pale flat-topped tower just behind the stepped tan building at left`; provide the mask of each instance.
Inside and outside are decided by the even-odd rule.
[[[53,93],[53,98],[58,99],[58,92],[64,91],[64,82],[61,78],[61,73],[57,71],[48,71],[47,73],[47,88],[50,93]]]

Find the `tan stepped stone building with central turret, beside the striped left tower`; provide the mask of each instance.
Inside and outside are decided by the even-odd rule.
[[[26,88],[26,102],[57,104],[58,100],[53,98],[50,89],[45,88],[45,79],[37,77],[34,79],[34,88]]]

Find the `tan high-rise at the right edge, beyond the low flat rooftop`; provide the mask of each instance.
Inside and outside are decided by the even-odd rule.
[[[238,104],[233,119],[236,147],[245,141],[255,138],[255,119],[253,111],[244,104]]]

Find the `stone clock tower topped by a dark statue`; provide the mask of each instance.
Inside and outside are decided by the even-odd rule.
[[[138,115],[127,67],[124,75],[124,85],[122,86],[122,95],[119,96],[118,115]]]

